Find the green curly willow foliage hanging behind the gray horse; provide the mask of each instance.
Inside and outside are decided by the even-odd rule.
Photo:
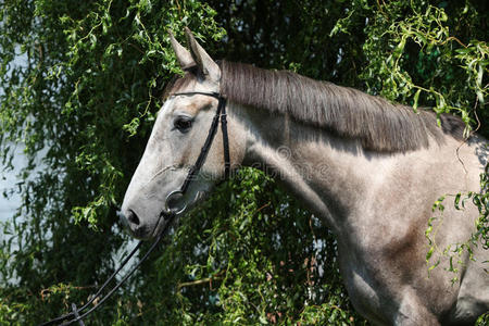
[[[0,323],[57,316],[116,267],[128,240],[117,203],[179,73],[168,29],[181,39],[189,26],[216,59],[459,114],[467,135],[488,137],[488,12],[485,1],[1,1],[0,156],[12,168],[21,146],[28,165],[11,190],[22,205],[2,222]],[[469,200],[487,246],[487,192]],[[256,171],[183,218],[138,273],[95,324],[365,323],[334,237]]]

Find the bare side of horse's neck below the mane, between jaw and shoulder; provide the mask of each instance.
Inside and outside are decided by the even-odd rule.
[[[333,230],[354,215],[391,170],[396,155],[365,152],[358,140],[266,110],[230,109],[247,133],[243,165],[275,176]]]

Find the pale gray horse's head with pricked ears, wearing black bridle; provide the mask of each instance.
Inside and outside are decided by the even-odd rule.
[[[170,33],[185,76],[170,88],[122,205],[122,220],[136,238],[159,235],[171,217],[188,211],[225,176],[223,131],[210,130],[223,100],[218,96],[221,70],[188,28],[186,36],[190,51]],[[202,154],[211,131],[217,137],[211,139],[209,152]],[[231,159],[240,156],[236,150],[242,148],[240,141],[234,137],[226,143],[227,149],[233,149]],[[192,174],[199,160],[202,166]]]

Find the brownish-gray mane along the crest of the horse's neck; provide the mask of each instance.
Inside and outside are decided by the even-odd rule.
[[[375,151],[410,151],[426,148],[429,138],[443,135],[462,139],[460,118],[442,115],[442,128],[434,112],[392,104],[360,90],[317,82],[287,71],[267,71],[222,61],[221,92],[243,105],[289,114],[296,121],[326,128],[341,137],[360,139]]]

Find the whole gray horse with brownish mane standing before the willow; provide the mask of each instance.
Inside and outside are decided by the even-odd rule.
[[[168,89],[122,213],[141,239],[160,234],[173,205],[190,208],[224,178],[218,130],[184,197],[179,189],[199,155],[217,99],[228,101],[231,168],[272,173],[336,234],[341,275],[354,308],[377,325],[474,324],[489,310],[489,251],[472,244],[457,281],[441,267],[428,275],[425,230],[442,195],[480,191],[487,141],[462,137],[463,125],[392,104],[355,89],[290,72],[215,63],[186,29],[189,49],[171,35],[186,72]],[[192,93],[183,93],[192,92]],[[205,93],[196,93],[205,92]],[[183,210],[186,211],[186,210]],[[185,213],[185,212],[181,212]],[[435,225],[439,250],[469,239],[475,206],[447,204]],[[486,268],[486,269],[485,269]]]

